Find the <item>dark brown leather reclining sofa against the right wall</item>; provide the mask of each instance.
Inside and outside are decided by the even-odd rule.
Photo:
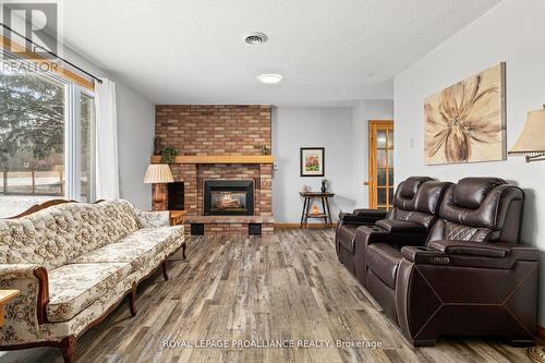
[[[538,251],[518,244],[523,198],[497,178],[409,178],[387,219],[356,227],[351,241],[341,216],[338,256],[415,346],[458,335],[532,344]]]

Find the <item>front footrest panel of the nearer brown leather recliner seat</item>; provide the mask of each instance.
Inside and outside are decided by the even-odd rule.
[[[396,288],[398,266],[403,256],[396,246],[388,243],[374,243],[367,246],[367,267],[384,283]]]

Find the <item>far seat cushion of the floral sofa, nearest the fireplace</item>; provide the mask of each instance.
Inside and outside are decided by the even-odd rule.
[[[143,228],[125,237],[118,243],[105,245],[98,250],[86,253],[72,263],[130,263],[132,271],[137,270],[157,254],[160,254],[166,246],[171,245],[183,235],[183,228],[159,227]]]

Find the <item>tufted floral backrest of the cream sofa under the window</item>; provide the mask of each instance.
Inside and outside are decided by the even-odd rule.
[[[0,219],[0,264],[39,264],[49,270],[137,229],[134,207],[126,201],[65,203],[20,219]]]

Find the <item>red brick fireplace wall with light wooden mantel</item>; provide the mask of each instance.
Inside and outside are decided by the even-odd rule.
[[[262,155],[271,147],[270,106],[159,105],[155,133],[161,147],[178,150],[170,168],[183,182],[187,231],[203,225],[205,234],[247,234],[258,223],[263,234],[272,233],[272,158]],[[221,180],[252,183],[252,215],[205,216],[205,184]]]

